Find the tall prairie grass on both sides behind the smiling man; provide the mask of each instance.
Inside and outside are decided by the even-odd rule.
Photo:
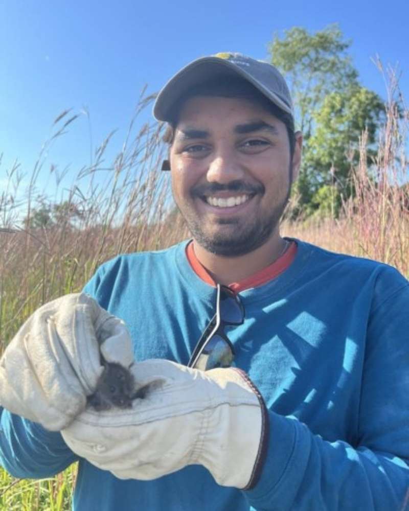
[[[351,169],[355,194],[344,202],[343,215],[284,221],[282,230],[330,250],[389,263],[409,276],[409,116],[392,71],[388,80],[387,121],[379,134],[378,155],[368,167],[362,133],[360,164]],[[92,162],[78,170],[49,223],[32,222],[36,211],[52,204],[46,191],[38,190],[38,176],[48,144],[73,127],[77,116],[70,117],[69,111],[58,116],[25,190],[18,164],[7,170],[9,186],[0,195],[0,354],[34,310],[79,291],[102,262],[118,253],[165,248],[189,236],[170,200],[169,175],[160,172],[166,155],[163,126],[139,123],[140,112],[152,100],[141,98],[123,146],[109,164],[105,160],[112,133]],[[51,166],[50,179],[58,188],[64,176],[56,174]],[[0,470],[0,509],[68,510],[75,473],[73,466],[54,478],[32,481]]]

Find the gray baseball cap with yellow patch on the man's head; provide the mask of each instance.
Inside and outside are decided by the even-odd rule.
[[[241,53],[201,57],[180,69],[159,92],[153,105],[153,117],[158,121],[170,121],[172,106],[191,87],[226,76],[240,76],[247,80],[272,103],[294,117],[290,91],[277,67]]]

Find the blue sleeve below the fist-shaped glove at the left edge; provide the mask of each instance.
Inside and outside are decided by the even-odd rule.
[[[21,479],[51,477],[78,460],[58,432],[0,407],[0,463]]]

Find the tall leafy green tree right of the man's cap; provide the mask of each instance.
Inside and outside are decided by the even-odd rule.
[[[383,102],[359,84],[350,44],[330,25],[314,34],[293,27],[282,38],[276,34],[268,47],[271,62],[290,85],[296,127],[304,136],[303,164],[294,186],[296,213],[336,214],[339,206],[334,207],[333,188],[328,187],[336,189],[336,204],[353,193],[348,176],[358,160],[359,136],[367,129],[368,143],[376,140]],[[369,150],[369,162],[372,156]]]

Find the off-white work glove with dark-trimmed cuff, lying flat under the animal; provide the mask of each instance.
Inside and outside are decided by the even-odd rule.
[[[265,405],[243,371],[201,371],[168,360],[135,362],[146,395],[132,408],[87,407],[61,431],[66,444],[121,479],[149,480],[201,464],[223,486],[249,489],[267,443]]]

